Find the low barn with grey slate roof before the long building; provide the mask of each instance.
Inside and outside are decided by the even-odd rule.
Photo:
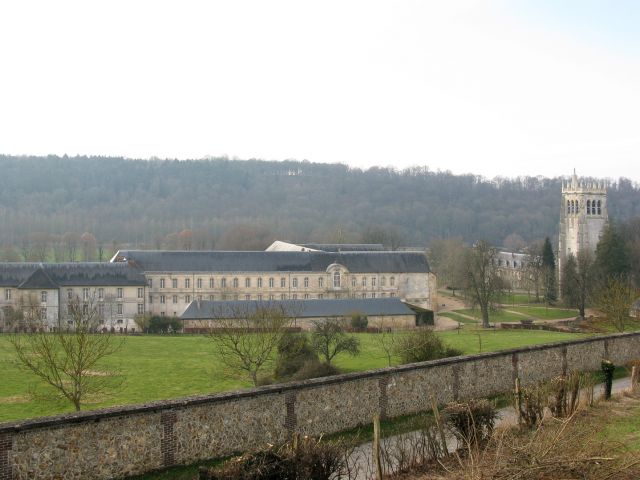
[[[185,332],[205,332],[219,327],[220,320],[250,316],[259,310],[275,310],[292,318],[292,327],[310,330],[314,322],[327,318],[347,321],[357,314],[367,317],[374,328],[408,329],[433,325],[433,313],[409,307],[398,298],[343,300],[193,301],[180,317]]]

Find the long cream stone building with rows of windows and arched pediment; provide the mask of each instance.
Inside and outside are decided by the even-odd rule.
[[[146,311],[180,316],[194,300],[400,298],[433,311],[436,278],[424,253],[140,251],[112,259],[142,272]]]

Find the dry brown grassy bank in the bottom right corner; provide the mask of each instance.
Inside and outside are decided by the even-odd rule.
[[[497,428],[484,448],[460,451],[405,479],[426,480],[635,480],[640,452],[625,435],[603,435],[618,419],[638,412],[640,398],[582,408],[566,419],[546,419],[535,430]]]

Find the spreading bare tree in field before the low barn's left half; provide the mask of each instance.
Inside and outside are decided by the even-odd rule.
[[[215,326],[207,337],[220,361],[232,374],[242,373],[257,386],[260,373],[272,366],[272,353],[291,327],[291,312],[265,303],[215,311],[212,318]]]

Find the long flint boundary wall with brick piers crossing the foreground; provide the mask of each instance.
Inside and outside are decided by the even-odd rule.
[[[0,424],[0,480],[121,478],[487,397],[603,358],[640,357],[640,333],[436,360],[250,390]]]

